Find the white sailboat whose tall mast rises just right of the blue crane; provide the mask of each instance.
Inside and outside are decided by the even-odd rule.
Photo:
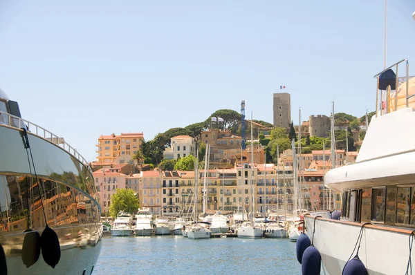
[[[252,122],[252,113],[251,113],[251,122]],[[243,222],[241,227],[237,229],[238,238],[262,238],[264,236],[264,230],[257,224],[255,224],[255,192],[254,192],[254,182],[253,182],[253,165],[254,165],[254,143],[253,143],[253,134],[252,134],[252,124],[251,124],[251,173],[250,173],[250,184],[251,184],[251,192],[250,192],[250,205],[251,205],[251,212],[248,214],[249,222]]]

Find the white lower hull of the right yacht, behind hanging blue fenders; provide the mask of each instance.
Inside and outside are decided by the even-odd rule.
[[[307,235],[313,238],[314,218],[304,217]],[[322,256],[325,274],[342,274],[358,240],[361,225],[318,218],[315,222],[314,246]],[[405,274],[409,257],[408,238],[412,230],[365,227],[359,258],[369,275]],[[353,256],[356,252],[353,254]],[[415,249],[412,250],[412,259]],[[412,260],[414,264],[414,260]]]

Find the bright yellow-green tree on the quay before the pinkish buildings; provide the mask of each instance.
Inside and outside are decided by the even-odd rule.
[[[117,189],[116,193],[111,198],[111,206],[109,213],[116,217],[120,211],[126,211],[133,214],[140,207],[138,198],[134,195],[131,189]]]

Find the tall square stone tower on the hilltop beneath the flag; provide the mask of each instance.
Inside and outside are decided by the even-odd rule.
[[[274,94],[274,127],[289,128],[291,124],[291,97],[289,93]]]

